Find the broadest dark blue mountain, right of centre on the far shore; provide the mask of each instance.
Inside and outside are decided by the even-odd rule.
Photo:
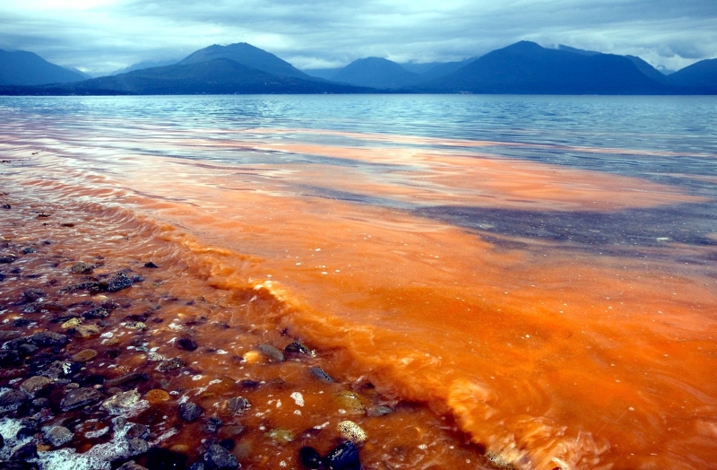
[[[652,80],[630,59],[541,48],[521,41],[497,49],[423,91],[519,94],[661,94],[673,92]]]

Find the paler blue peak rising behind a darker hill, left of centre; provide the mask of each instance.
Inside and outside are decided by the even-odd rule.
[[[246,42],[237,44],[229,44],[229,46],[217,46],[216,44],[209,48],[199,49],[190,54],[178,64],[190,65],[200,64],[217,58],[228,58],[238,64],[246,67],[261,70],[267,74],[277,75],[280,77],[295,77],[304,80],[311,80],[309,75],[304,74],[294,65],[289,64],[281,58],[266,52],[260,48],[255,48]]]

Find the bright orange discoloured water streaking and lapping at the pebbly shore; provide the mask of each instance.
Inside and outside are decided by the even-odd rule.
[[[237,292],[225,299],[230,312],[246,302],[242,292],[263,292],[281,308],[270,315],[237,307],[241,322],[298,332],[333,352],[330,372],[342,379],[370,381],[383,396],[454,418],[497,465],[715,466],[714,245],[665,239],[621,256],[569,240],[462,229],[415,210],[609,214],[704,204],[703,196],[481,152],[502,145],[493,142],[119,122],[98,132],[62,129],[4,130],[0,153],[12,161],[4,178],[48,204],[121,207],[155,224],[199,280],[186,283],[188,297]],[[327,144],[332,137],[349,140]],[[327,160],[168,156],[186,149]],[[580,149],[592,150],[610,152]],[[365,170],[367,163],[386,170]],[[438,435],[422,414],[401,420],[382,423],[385,436]],[[457,465],[441,458],[432,465]]]

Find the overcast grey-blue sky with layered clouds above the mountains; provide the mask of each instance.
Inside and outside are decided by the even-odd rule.
[[[717,0],[0,0],[0,48],[91,74],[248,42],[299,68],[451,61],[521,39],[643,57],[717,57]]]

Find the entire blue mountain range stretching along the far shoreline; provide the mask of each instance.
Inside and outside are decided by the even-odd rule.
[[[521,41],[460,62],[381,57],[306,72],[246,43],[213,45],[176,64],[144,62],[86,80],[30,52],[0,50],[0,94],[535,93],[717,94],[717,59],[665,75],[640,57]]]

